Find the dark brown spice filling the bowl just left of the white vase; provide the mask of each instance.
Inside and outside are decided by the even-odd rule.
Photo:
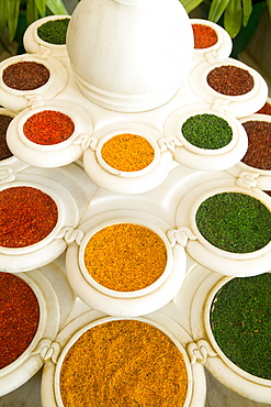
[[[34,61],[23,61],[3,69],[2,80],[12,89],[33,90],[41,88],[49,80],[49,69]]]

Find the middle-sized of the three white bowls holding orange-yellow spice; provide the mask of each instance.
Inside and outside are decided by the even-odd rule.
[[[78,227],[83,237],[68,246],[68,280],[86,304],[108,315],[153,312],[180,289],[184,250],[170,226],[156,217],[115,216],[106,221],[101,216],[99,223],[98,217],[89,218]]]

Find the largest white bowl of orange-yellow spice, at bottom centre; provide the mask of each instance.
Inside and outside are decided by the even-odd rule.
[[[57,363],[46,363],[42,377],[44,407],[80,407],[89,397],[108,405],[204,406],[204,367],[185,350],[191,338],[160,312],[127,319],[92,310],[67,324],[56,342]]]

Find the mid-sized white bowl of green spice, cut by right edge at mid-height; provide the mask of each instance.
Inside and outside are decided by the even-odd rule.
[[[190,234],[185,251],[199,264],[229,276],[270,268],[271,200],[246,179],[204,182],[180,201],[177,222]],[[184,208],[191,208],[190,210]]]

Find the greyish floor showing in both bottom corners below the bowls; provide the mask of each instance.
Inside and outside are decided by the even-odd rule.
[[[41,407],[41,376],[42,370],[27,383],[16,391],[0,398],[0,407]],[[270,407],[271,404],[261,404],[249,400],[226,388],[206,371],[207,397],[205,407]],[[270,400],[271,403],[271,400]],[[123,406],[125,407],[125,406]]]

